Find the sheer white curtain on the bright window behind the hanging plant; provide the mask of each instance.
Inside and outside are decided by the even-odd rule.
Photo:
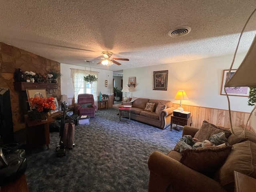
[[[92,74],[95,75],[96,78],[98,78],[98,72],[92,72],[92,71],[86,71],[86,70],[80,70],[80,69],[71,69],[71,78],[73,82],[74,87],[74,100],[75,103],[77,103],[78,98],[78,92],[80,91],[80,87],[82,87],[82,84],[84,83],[84,76]],[[92,84],[93,89],[93,97],[94,101],[97,101],[97,82],[94,82]]]

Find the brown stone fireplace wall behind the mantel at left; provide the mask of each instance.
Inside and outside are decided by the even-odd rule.
[[[14,132],[25,128],[21,99],[24,93],[14,90],[14,73],[18,68],[21,68],[22,72],[47,74],[50,69],[60,71],[60,63],[0,42],[0,87],[10,90]],[[46,92],[60,100],[60,79],[57,83],[58,89]]]

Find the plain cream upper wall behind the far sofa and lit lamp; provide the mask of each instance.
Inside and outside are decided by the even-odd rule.
[[[238,68],[245,54],[238,54],[233,69]],[[136,87],[130,88],[130,96],[174,100],[178,90],[185,90],[189,100],[183,100],[182,104],[191,106],[203,106],[228,110],[228,99],[220,95],[223,70],[230,68],[233,55],[215,58],[207,58],[186,62],[178,62],[150,67],[124,70],[123,80],[136,77]],[[168,70],[167,91],[153,90],[153,72]],[[252,106],[247,105],[248,97],[230,96],[231,110],[251,112]],[[256,125],[253,126],[254,128]]]

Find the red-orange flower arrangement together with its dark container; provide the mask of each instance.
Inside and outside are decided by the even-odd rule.
[[[30,120],[40,119],[41,121],[47,121],[48,112],[55,110],[54,98],[42,98],[34,97],[28,100],[32,111],[29,113]]]

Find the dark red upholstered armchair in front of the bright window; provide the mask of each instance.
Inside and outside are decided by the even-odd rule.
[[[78,115],[90,115],[95,116],[97,106],[94,104],[94,98],[92,94],[79,94],[77,99]]]

